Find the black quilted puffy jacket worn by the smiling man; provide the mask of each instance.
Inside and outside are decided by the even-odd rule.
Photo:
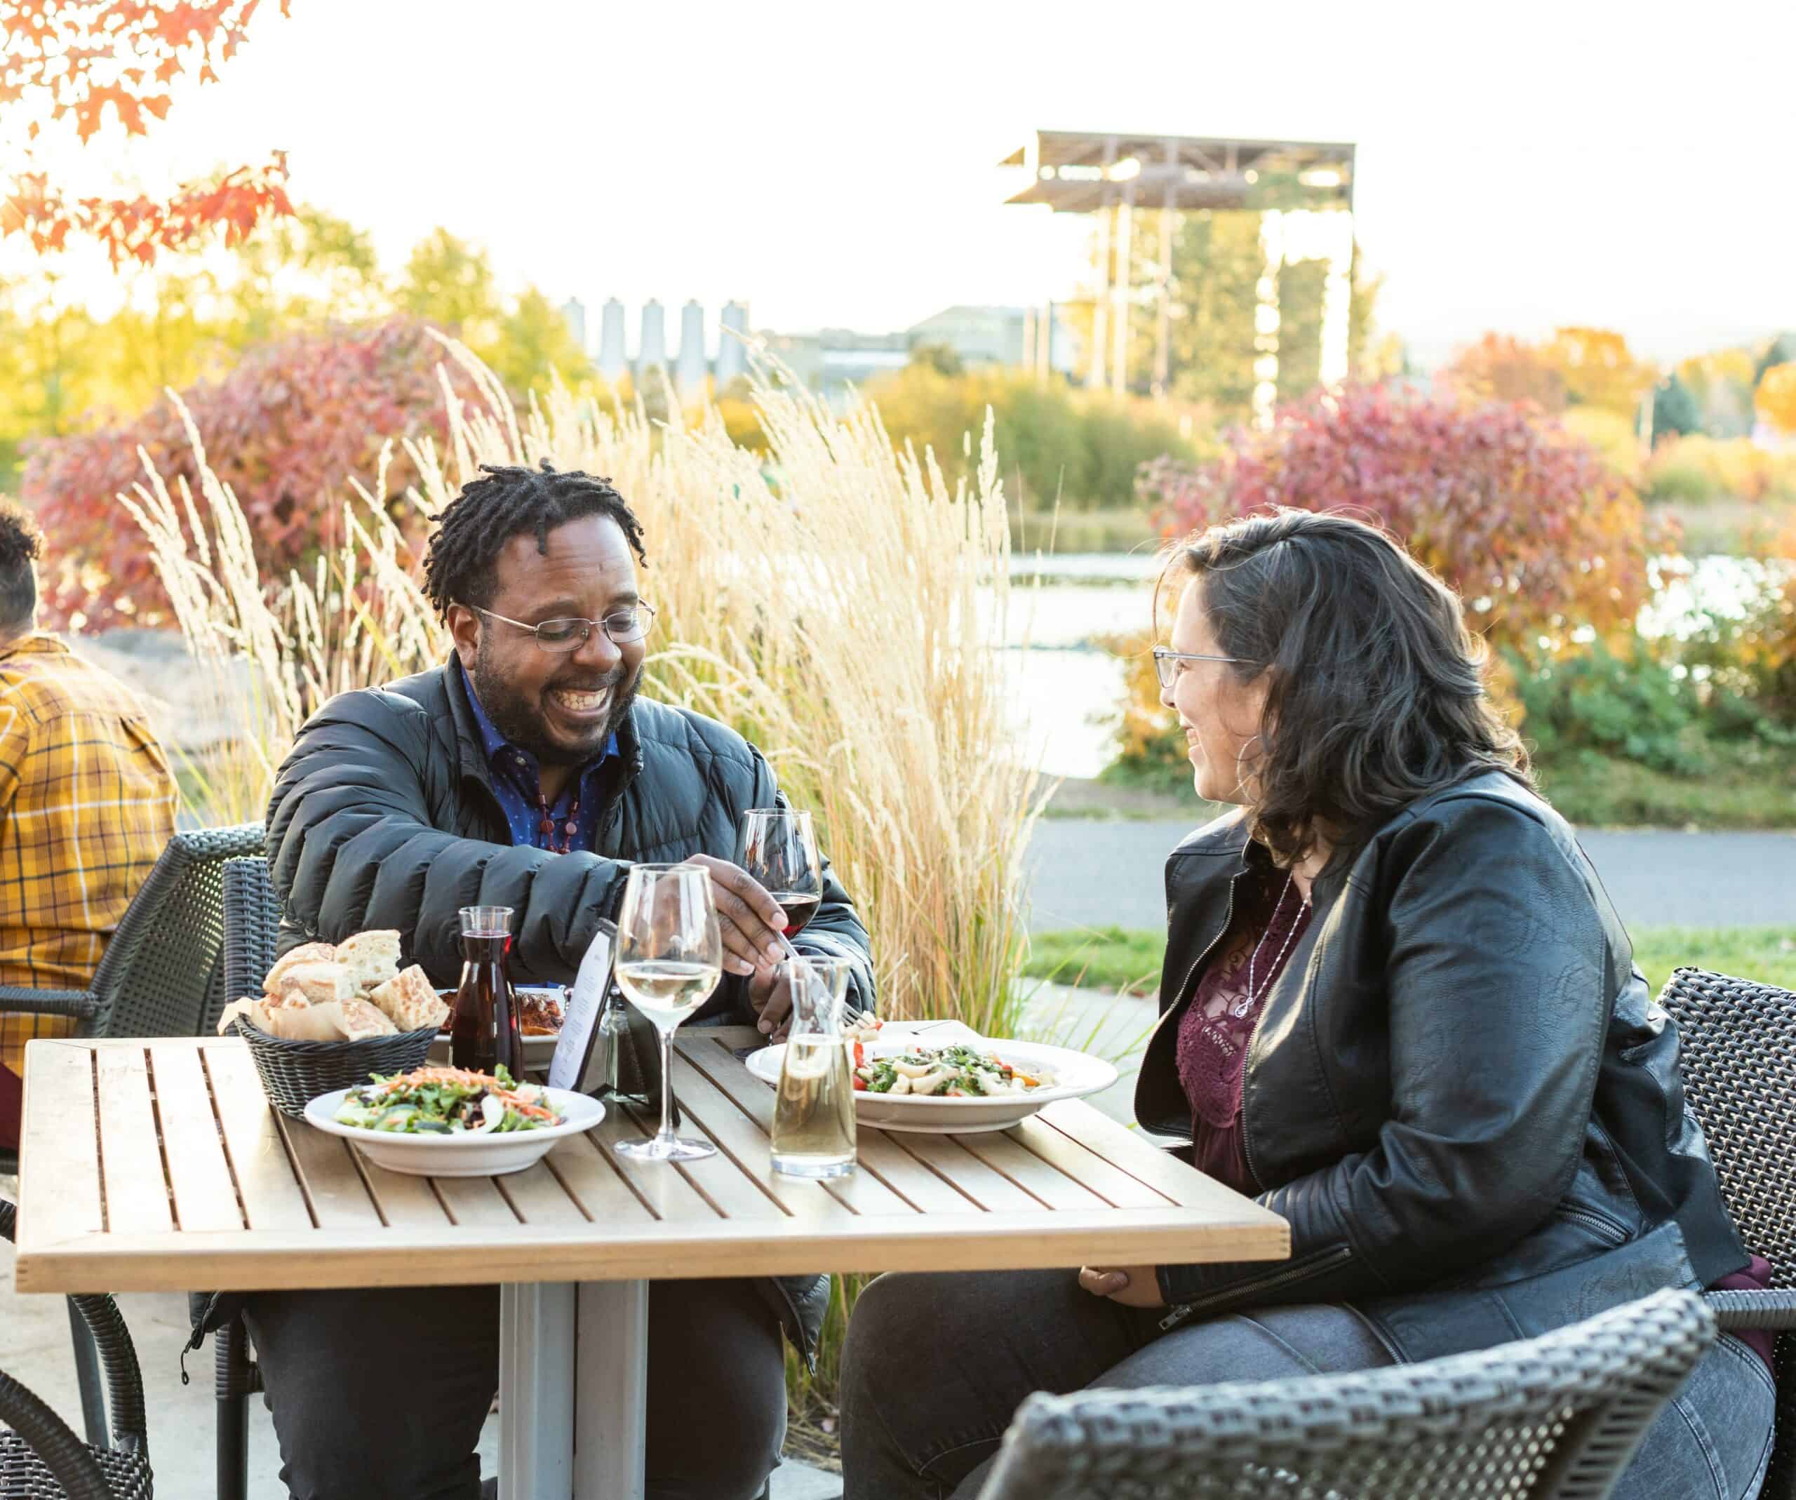
[[[453,668],[453,663],[451,663]],[[462,970],[460,907],[514,911],[512,977],[573,983],[600,918],[614,918],[632,862],[736,857],[751,807],[783,807],[774,774],[722,724],[638,699],[618,731],[621,774],[596,853],[512,846],[462,674],[420,672],[343,693],[300,729],[268,805],[268,868],[282,952],[395,927],[436,984]],[[873,1010],[867,934],[824,864],[823,902],[796,940],[855,963],[850,1004]],[[726,975],[699,1019],[753,1020],[747,981]],[[781,1277],[774,1310],[815,1346],[828,1277]]]

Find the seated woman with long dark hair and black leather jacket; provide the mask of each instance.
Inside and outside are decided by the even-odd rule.
[[[846,1500],[977,1493],[1033,1390],[1372,1369],[1765,1284],[1676,1028],[1451,589],[1299,510],[1194,537],[1164,582],[1162,702],[1237,810],[1167,862],[1135,1112],[1282,1214],[1291,1259],[880,1277],[844,1353]],[[1616,1495],[1751,1500],[1767,1362],[1722,1337]]]

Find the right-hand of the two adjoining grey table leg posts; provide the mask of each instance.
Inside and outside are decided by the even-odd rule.
[[[580,1283],[575,1360],[573,1496],[643,1500],[647,1281]]]

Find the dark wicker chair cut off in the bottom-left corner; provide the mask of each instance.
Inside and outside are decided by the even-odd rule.
[[[0,1234],[13,1238],[13,1205],[0,1200]],[[0,1372],[0,1500],[149,1500],[144,1378],[131,1331],[111,1297],[72,1297],[106,1365],[111,1444],[86,1444],[43,1401]]]

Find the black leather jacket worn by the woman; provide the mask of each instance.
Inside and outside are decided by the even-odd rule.
[[[1135,1092],[1149,1130],[1191,1134],[1178,1022],[1250,860],[1266,855],[1241,814],[1167,860],[1162,1015]],[[1602,1304],[1742,1268],[1683,1108],[1677,1031],[1564,819],[1485,772],[1342,864],[1315,882],[1243,1080],[1246,1159],[1259,1202],[1291,1225],[1291,1259],[1164,1266],[1184,1308],[1169,1322],[1273,1302],[1401,1313],[1421,1297],[1437,1315],[1413,1337],[1378,1317],[1419,1358],[1480,1347],[1467,1306],[1487,1288],[1503,1288],[1491,1328],[1534,1333],[1593,1311],[1616,1266],[1633,1270]],[[1651,1254],[1624,1250],[1645,1241]]]

